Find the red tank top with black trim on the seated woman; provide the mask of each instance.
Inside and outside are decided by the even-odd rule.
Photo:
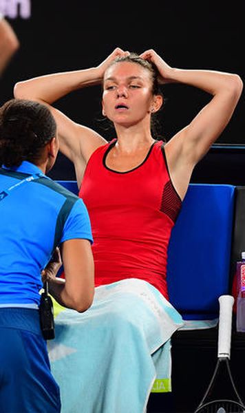
[[[140,278],[167,294],[167,248],[181,200],[169,178],[162,141],[151,145],[138,167],[106,166],[116,139],[87,163],[79,192],[92,224],[96,286]]]

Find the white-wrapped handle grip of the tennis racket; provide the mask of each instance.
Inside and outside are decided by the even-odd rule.
[[[220,321],[218,335],[217,357],[230,358],[231,353],[231,328],[232,328],[232,309],[234,297],[232,295],[221,295],[220,302]]]

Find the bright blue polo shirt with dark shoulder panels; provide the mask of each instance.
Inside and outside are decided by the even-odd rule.
[[[38,305],[41,271],[56,246],[93,242],[83,200],[27,161],[0,169],[0,218],[0,306]]]

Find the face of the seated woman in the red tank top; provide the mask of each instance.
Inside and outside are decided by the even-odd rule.
[[[138,63],[118,62],[104,76],[103,114],[114,124],[136,125],[151,113],[150,72]]]

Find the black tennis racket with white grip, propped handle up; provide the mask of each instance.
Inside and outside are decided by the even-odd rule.
[[[213,377],[195,413],[245,413],[230,369],[232,295],[221,295],[217,364]]]

